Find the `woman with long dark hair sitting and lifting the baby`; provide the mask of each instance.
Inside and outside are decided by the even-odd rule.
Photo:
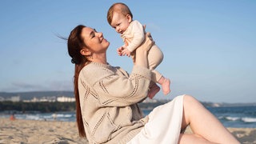
[[[102,33],[76,26],[68,38],[68,51],[75,64],[74,94],[78,131],[90,143],[238,143],[217,118],[189,95],[174,98],[143,117],[138,102],[146,98],[151,73],[146,37],[131,74],[110,66],[110,45]],[[194,134],[181,134],[186,126]]]

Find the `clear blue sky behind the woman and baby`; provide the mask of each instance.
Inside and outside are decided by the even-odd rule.
[[[73,90],[70,31],[80,24],[110,42],[107,61],[130,73],[116,53],[122,38],[106,20],[114,2],[130,7],[164,53],[157,67],[171,79],[167,96],[202,102],[256,102],[256,1],[0,1],[0,91]]]

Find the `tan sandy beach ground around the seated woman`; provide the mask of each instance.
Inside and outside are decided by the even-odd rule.
[[[241,143],[256,143],[256,128],[228,128]],[[191,133],[190,129],[186,133]],[[88,143],[75,122],[0,118],[0,143]]]

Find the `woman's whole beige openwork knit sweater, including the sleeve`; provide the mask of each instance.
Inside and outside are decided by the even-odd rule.
[[[131,74],[97,62],[78,78],[82,119],[90,143],[126,143],[148,122],[137,103],[146,98],[151,73],[134,66]]]

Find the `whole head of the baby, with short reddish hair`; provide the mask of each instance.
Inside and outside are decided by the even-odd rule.
[[[107,12],[107,22],[119,34],[122,34],[127,29],[132,20],[133,14],[130,12],[129,7],[122,2],[114,3]]]

